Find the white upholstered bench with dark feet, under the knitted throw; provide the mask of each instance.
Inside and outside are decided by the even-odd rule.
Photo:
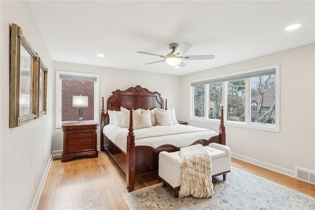
[[[211,153],[212,177],[223,175],[226,179],[226,173],[231,169],[231,150],[229,147],[210,143],[204,146]],[[177,152],[162,151],[158,156],[158,176],[163,182],[163,186],[168,185],[175,190],[175,197],[178,198],[178,191],[182,184],[183,160]]]

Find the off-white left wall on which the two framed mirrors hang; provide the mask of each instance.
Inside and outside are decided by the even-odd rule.
[[[31,209],[52,151],[52,60],[28,3],[0,1],[0,5],[0,209]],[[9,128],[9,41],[12,23],[22,28],[33,49],[48,68],[47,114],[17,128]]]

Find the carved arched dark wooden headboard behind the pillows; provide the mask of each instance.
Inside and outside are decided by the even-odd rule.
[[[135,87],[130,87],[126,90],[116,90],[112,92],[112,95],[107,99],[107,110],[120,111],[120,107],[123,106],[126,109],[129,109],[130,106],[133,109],[153,109],[164,108],[164,100],[161,98],[161,94],[158,92],[151,92],[146,88],[142,88],[140,85]],[[167,109],[167,104],[165,104],[165,109]],[[100,129],[103,130],[103,127],[109,124],[109,116],[104,109],[104,97],[102,98],[102,108],[101,108],[101,124]],[[102,133],[102,132],[101,132]],[[101,135],[101,150],[103,150],[102,137]]]

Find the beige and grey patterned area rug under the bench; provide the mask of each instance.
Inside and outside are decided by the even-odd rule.
[[[315,210],[315,198],[242,170],[213,178],[210,198],[175,198],[162,183],[125,193],[131,210]]]

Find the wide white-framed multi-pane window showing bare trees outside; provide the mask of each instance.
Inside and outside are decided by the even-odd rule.
[[[191,120],[279,132],[279,65],[192,81]]]

